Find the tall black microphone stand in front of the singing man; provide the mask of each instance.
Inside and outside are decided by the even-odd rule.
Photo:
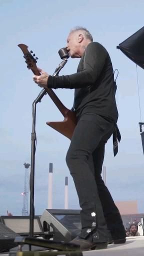
[[[66,64],[65,57],[56,67],[52,76],[58,75],[61,68]],[[36,118],[36,104],[41,102],[42,97],[46,94],[46,90],[42,89],[36,99],[32,103],[32,132],[31,132],[31,166],[30,166],[30,214],[29,214],[29,236],[33,236],[33,222],[34,222],[34,165],[35,165],[35,146],[36,146],[36,132],[35,132],[35,118]]]

